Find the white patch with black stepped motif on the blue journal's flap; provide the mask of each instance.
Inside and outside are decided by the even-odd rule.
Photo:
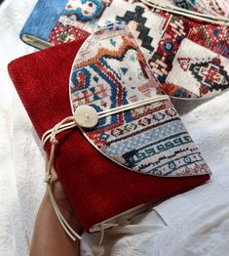
[[[115,0],[112,3],[112,15],[109,9],[105,10],[97,26],[124,21],[134,35],[141,52],[149,59],[157,48],[164,33],[165,23],[170,17],[160,16],[136,0],[132,4],[125,0]]]

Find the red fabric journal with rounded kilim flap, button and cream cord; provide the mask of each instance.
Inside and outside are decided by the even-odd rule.
[[[210,168],[170,99],[158,94],[126,25],[109,24],[81,44],[19,58],[9,72],[47,144],[47,182],[54,167],[81,225],[93,233],[204,184]]]

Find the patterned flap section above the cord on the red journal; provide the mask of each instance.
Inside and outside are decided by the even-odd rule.
[[[82,46],[73,65],[73,110],[93,104],[99,112],[156,96],[160,84],[148,69],[125,24],[98,30]]]

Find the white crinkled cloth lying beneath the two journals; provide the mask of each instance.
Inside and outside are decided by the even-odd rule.
[[[33,52],[19,29],[35,0],[0,7],[0,255],[28,255],[36,211],[45,191],[44,157],[6,66]],[[210,183],[172,197],[133,225],[106,233],[106,254],[221,256],[229,251],[229,92],[199,105],[175,101],[213,172]],[[199,105],[199,106],[198,106]],[[84,235],[92,255],[97,235]]]

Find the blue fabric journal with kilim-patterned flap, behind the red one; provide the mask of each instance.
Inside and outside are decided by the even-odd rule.
[[[88,36],[97,25],[123,21],[162,84],[161,94],[206,99],[229,87],[225,1],[215,7],[211,0],[39,0],[20,37],[45,48]]]

